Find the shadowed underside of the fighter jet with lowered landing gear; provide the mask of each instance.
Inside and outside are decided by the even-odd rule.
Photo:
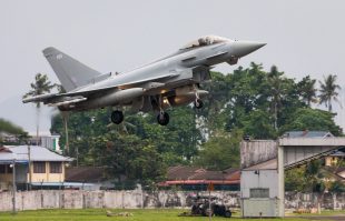
[[[208,94],[207,91],[200,90],[197,84],[181,86],[164,93],[144,93],[142,96],[134,98],[137,94],[136,91],[139,90],[132,90],[132,96],[127,94],[128,102],[116,103],[116,97],[114,97],[114,93],[118,93],[117,91],[109,93],[108,96],[102,96],[101,98],[93,98],[72,106],[60,106],[59,109],[61,111],[83,111],[89,109],[114,107],[115,110],[111,112],[110,120],[111,122],[119,124],[125,119],[124,112],[121,111],[122,107],[130,107],[135,111],[156,112],[157,122],[160,125],[167,125],[169,123],[169,114],[166,112],[168,108],[193,102],[196,109],[200,109],[204,106],[201,98]],[[128,93],[128,91],[126,93]],[[121,97],[121,99],[124,100],[124,97]]]

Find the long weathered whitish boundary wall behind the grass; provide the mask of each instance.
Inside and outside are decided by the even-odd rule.
[[[208,192],[199,192],[208,195]],[[187,208],[191,205],[195,192],[185,191],[82,191],[82,190],[37,190],[16,193],[17,210],[37,209],[83,209],[83,208]],[[214,191],[211,195],[224,199],[231,208],[239,208],[239,192]],[[287,192],[286,209],[312,208],[317,204],[317,193]],[[345,193],[324,195],[325,209],[345,209]],[[0,211],[12,210],[12,192],[0,192]]]

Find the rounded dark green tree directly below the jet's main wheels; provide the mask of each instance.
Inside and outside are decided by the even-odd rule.
[[[108,142],[103,142],[108,140]],[[102,141],[102,152],[108,174],[120,181],[125,175],[129,180],[138,180],[147,185],[160,181],[166,172],[166,165],[155,145],[148,140],[136,135],[118,135],[109,133]],[[101,152],[98,150],[98,152]]]

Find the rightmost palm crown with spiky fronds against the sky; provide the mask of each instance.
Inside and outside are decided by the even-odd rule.
[[[335,100],[339,103],[339,100],[337,99],[337,90],[341,90],[342,88],[335,83],[336,78],[337,76],[328,74],[327,78],[324,77],[324,82],[318,81],[321,87],[321,94],[318,96],[319,103],[325,103],[329,112],[332,112],[332,100]]]

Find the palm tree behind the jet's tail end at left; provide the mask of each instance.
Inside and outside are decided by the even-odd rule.
[[[37,73],[34,76],[34,82],[31,83],[30,87],[31,87],[31,90],[28,93],[26,93],[23,98],[49,93],[50,90],[56,87],[56,84],[51,84],[51,82],[48,80],[48,77],[46,74]],[[39,137],[40,107],[41,107],[41,103],[37,102],[36,103],[36,114],[37,114],[36,115],[37,118],[36,119],[36,138],[37,140]]]

